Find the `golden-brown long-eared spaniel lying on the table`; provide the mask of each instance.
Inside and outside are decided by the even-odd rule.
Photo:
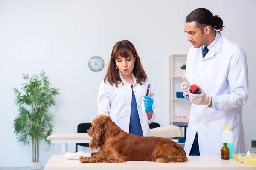
[[[126,133],[112,122],[111,117],[99,115],[93,119],[88,130],[92,138],[89,147],[91,157],[79,157],[84,163],[126,162],[126,161],[157,161],[185,162],[188,161],[183,148],[167,138],[142,137]]]

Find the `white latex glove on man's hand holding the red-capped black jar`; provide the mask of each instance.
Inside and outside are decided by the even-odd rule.
[[[207,95],[199,85],[198,88],[200,94],[189,93],[190,102],[196,105],[210,105],[212,102],[212,96]]]

